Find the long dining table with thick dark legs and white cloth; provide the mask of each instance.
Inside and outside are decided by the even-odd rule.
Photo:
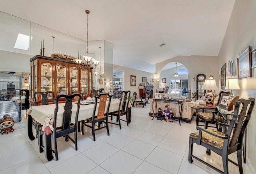
[[[109,112],[112,111],[117,111],[119,108],[119,99],[111,99],[111,104],[109,108]],[[63,119],[63,111],[64,111],[64,105],[65,103],[60,103],[59,104],[59,109],[57,113],[57,127],[61,127],[62,125],[62,119]],[[96,108],[96,113],[98,110],[98,105]],[[108,102],[106,102],[106,109],[107,109]],[[81,101],[80,102],[80,109],[78,113],[78,121],[85,120],[87,118],[92,117],[93,114],[93,109],[94,109],[95,103],[86,103]],[[35,137],[32,132],[32,123],[33,119],[37,122],[40,123],[41,125],[44,124],[44,122],[47,120],[49,115],[54,114],[54,109],[56,108],[55,104],[49,104],[49,105],[40,105],[40,106],[31,106],[28,111],[28,137],[30,140],[34,140]],[[72,116],[71,116],[71,123],[75,123],[75,115],[76,115],[76,110],[77,110],[77,102],[72,102]],[[106,112],[106,110],[105,110]],[[131,121],[131,111],[130,108],[128,108],[128,122],[130,123]],[[52,156],[52,144],[51,144],[51,134],[46,135],[44,133],[44,154],[45,157],[50,161],[53,159]]]

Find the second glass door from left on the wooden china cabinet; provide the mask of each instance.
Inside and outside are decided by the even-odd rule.
[[[57,65],[57,95],[67,94],[67,68],[64,65]]]

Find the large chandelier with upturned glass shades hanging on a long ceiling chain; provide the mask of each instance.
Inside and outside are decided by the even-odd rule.
[[[87,14],[87,41],[86,41],[86,56],[83,56],[83,59],[75,59],[76,63],[79,64],[79,67],[82,68],[83,66],[85,67],[90,67],[90,68],[96,68],[96,66],[100,63],[99,61],[96,61],[92,57],[89,56],[88,52],[88,14],[90,13],[89,10],[85,10],[85,13]]]

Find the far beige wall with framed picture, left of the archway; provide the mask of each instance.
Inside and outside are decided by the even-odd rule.
[[[134,92],[137,92],[137,94],[139,94],[140,90],[139,90],[139,85],[140,83],[142,83],[142,77],[147,77],[148,78],[148,82],[151,84],[153,84],[154,86],[154,92],[157,86],[157,81],[156,81],[156,74],[152,74],[150,72],[145,72],[145,71],[141,71],[141,70],[136,70],[136,69],[132,69],[132,68],[127,68],[124,66],[119,66],[116,65],[116,67],[114,67],[114,69],[118,69],[118,70],[122,70],[123,71],[123,90],[131,91],[131,96],[133,95]],[[130,76],[136,76],[136,86],[130,86]],[[154,82],[152,82],[152,79],[154,78]]]

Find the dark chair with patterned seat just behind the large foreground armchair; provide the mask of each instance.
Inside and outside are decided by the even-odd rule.
[[[221,94],[230,94],[230,92],[221,91],[219,93],[219,99],[218,99],[217,105],[219,105],[221,102],[220,101]],[[223,119],[222,117],[219,116],[219,112],[218,112],[217,108],[215,109],[215,111],[211,111],[211,112],[205,112],[204,108],[202,108],[202,109],[203,109],[202,112],[196,113],[196,126],[202,126],[202,125],[199,125],[199,122],[203,121],[204,129],[207,129],[209,123],[216,124],[217,121],[221,121]],[[209,126],[209,127],[212,127],[212,126]],[[217,125],[216,125],[216,127],[217,127]]]

